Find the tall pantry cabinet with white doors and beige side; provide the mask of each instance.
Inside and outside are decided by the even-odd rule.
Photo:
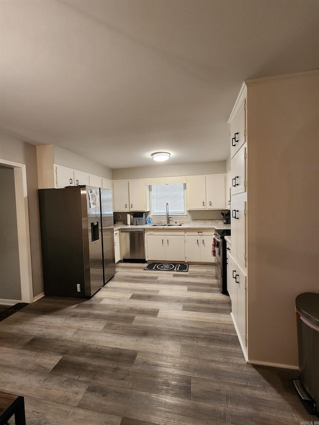
[[[318,88],[318,70],[246,81],[229,119],[232,317],[253,364],[298,368],[296,296],[319,292]]]

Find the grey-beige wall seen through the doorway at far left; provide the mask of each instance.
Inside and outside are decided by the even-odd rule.
[[[0,166],[0,298],[21,299],[13,168]]]

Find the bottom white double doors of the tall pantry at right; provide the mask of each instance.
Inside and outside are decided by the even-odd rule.
[[[244,353],[247,353],[247,276],[227,253],[227,289],[231,316]]]

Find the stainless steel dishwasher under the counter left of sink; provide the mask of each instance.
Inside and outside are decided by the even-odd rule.
[[[120,245],[123,261],[145,263],[144,228],[121,229]]]

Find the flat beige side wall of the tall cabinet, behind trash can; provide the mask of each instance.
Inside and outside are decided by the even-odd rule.
[[[298,366],[295,299],[319,292],[319,74],[248,83],[248,352]]]

